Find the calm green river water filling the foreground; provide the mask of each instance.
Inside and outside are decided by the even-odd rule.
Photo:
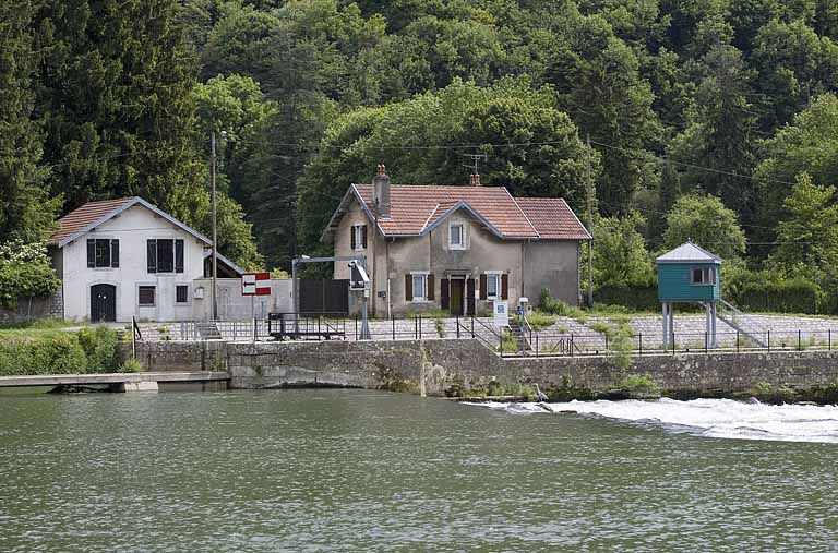
[[[362,390],[0,397],[0,552],[838,551],[838,446]]]

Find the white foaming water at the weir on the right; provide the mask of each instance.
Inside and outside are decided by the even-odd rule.
[[[838,407],[749,404],[731,399],[472,404],[515,413],[575,411],[722,438],[838,443]]]

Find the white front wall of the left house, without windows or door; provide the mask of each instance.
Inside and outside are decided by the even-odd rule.
[[[119,268],[87,267],[87,243],[91,238],[119,239]],[[183,273],[148,273],[146,240],[152,238],[183,240]],[[130,207],[79,240],[61,249],[59,276],[63,280],[64,318],[88,320],[91,287],[97,284],[117,288],[117,321],[132,316],[146,321],[185,321],[192,317],[192,281],[203,277],[204,243],[192,235],[156,216],[143,206]],[[139,305],[139,287],[155,286],[155,305]],[[190,302],[176,303],[176,286],[189,286]]]

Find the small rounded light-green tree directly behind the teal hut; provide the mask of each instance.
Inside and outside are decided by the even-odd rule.
[[[672,249],[692,241],[722,259],[745,253],[745,233],[737,215],[718,197],[681,196],[667,214],[663,247]]]

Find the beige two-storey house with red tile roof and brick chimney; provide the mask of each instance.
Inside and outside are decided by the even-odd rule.
[[[579,302],[580,244],[591,237],[561,197],[513,197],[503,187],[391,184],[384,166],[351,184],[321,240],[335,255],[363,255],[378,316],[442,309],[492,312],[492,303]],[[336,263],[334,277],[348,278]]]

